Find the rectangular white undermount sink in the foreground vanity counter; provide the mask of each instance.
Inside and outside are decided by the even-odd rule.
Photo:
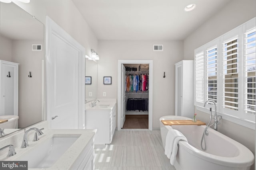
[[[50,168],[80,137],[80,134],[54,134],[28,153],[22,154],[19,160],[27,160],[28,168]]]

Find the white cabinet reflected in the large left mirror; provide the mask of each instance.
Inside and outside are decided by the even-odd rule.
[[[0,115],[18,116],[18,63],[0,60]]]

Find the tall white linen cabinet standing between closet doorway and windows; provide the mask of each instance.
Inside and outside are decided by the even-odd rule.
[[[175,64],[175,115],[194,116],[194,61]]]

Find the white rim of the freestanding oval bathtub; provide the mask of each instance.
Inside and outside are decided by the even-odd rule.
[[[187,118],[187,117],[182,117],[182,116],[163,116],[160,117],[160,123],[161,120],[173,120],[176,119],[175,117],[178,118]],[[190,118],[188,118],[190,119]],[[167,128],[168,130],[172,129],[172,126],[176,126],[176,125],[163,125],[165,128]],[[181,125],[177,125],[177,126],[181,126]],[[186,125],[186,126],[197,126],[197,125]],[[206,125],[201,125],[202,127],[206,127]],[[215,131],[212,128],[208,129],[209,133],[217,133],[217,135],[220,135],[221,137],[224,137],[225,139],[231,140],[231,142],[233,143],[233,145],[235,145],[239,151],[238,156],[234,156],[234,157],[224,157],[224,156],[216,156],[207,152],[204,152],[202,150],[196,149],[195,147],[193,147],[192,145],[190,145],[189,143],[187,143],[186,141],[179,141],[178,145],[182,145],[184,146],[184,149],[189,152],[190,154],[193,154],[193,156],[196,156],[200,159],[203,159],[205,161],[208,162],[212,162],[215,164],[219,164],[222,166],[228,166],[228,167],[234,167],[234,168],[241,168],[241,167],[248,167],[248,166],[252,166],[252,164],[254,164],[254,155],[253,153],[244,145],[242,145],[241,143],[238,143],[237,141],[235,141],[234,139],[231,139],[230,137],[223,135],[222,133]],[[194,150],[194,151],[193,151]],[[246,158],[246,159],[244,159]],[[247,160],[248,159],[248,160]],[[225,160],[225,161],[224,161]]]

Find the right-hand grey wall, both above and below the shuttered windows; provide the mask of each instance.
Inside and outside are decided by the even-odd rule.
[[[208,43],[231,29],[256,16],[255,0],[232,0],[227,6],[198,27],[190,36],[184,39],[184,59],[194,60],[194,49]],[[209,114],[198,111],[197,119],[209,121]],[[255,153],[255,130],[243,127],[230,121],[221,120],[218,131],[242,143]],[[251,167],[254,170],[254,165]]]

